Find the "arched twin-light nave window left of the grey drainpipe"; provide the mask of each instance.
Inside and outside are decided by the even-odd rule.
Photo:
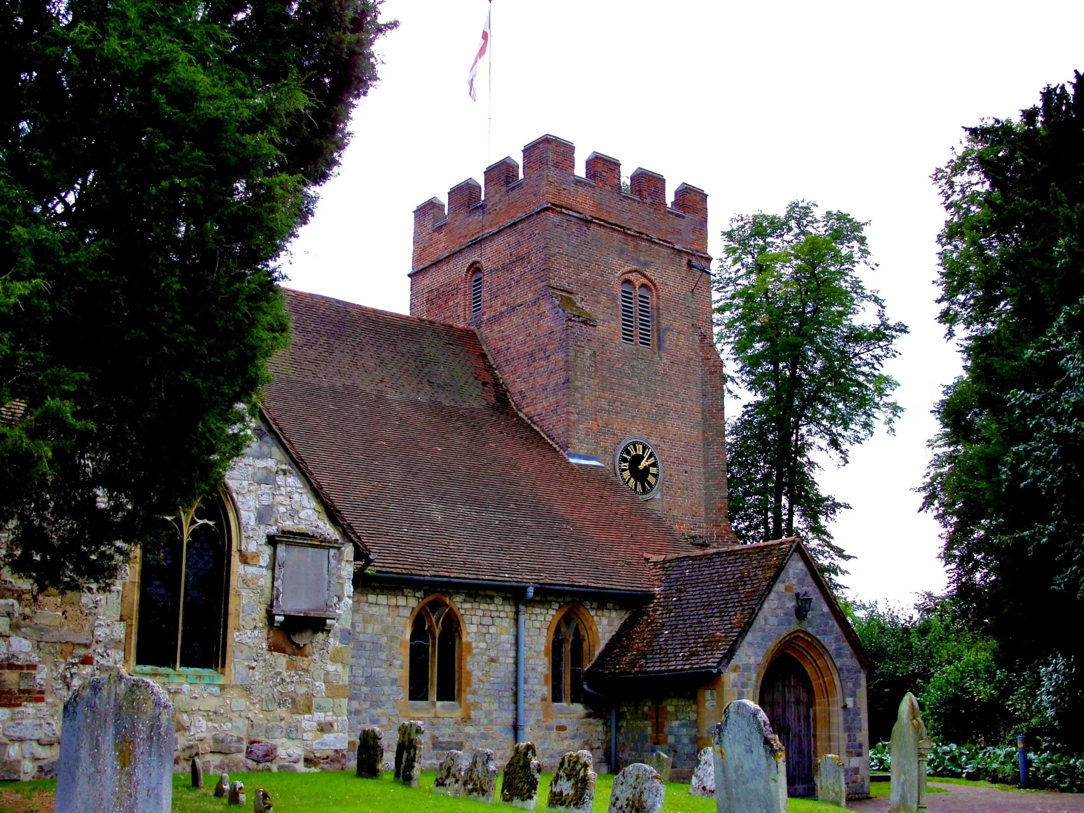
[[[462,685],[459,619],[440,596],[422,605],[410,632],[408,699],[455,702]]]

